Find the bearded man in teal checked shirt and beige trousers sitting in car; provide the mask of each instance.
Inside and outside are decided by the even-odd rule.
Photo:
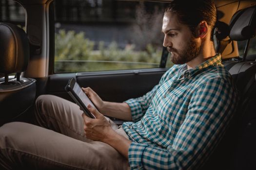
[[[236,110],[232,77],[214,50],[216,21],[212,0],[171,2],[163,17],[163,46],[176,65],[158,85],[123,103],[102,101],[91,88],[83,88],[98,107],[100,113],[88,106],[96,119],[81,117],[72,102],[40,96],[36,120],[41,127],[13,122],[0,128],[0,165],[5,169],[197,169],[213,152]],[[127,122],[118,127],[103,115]]]

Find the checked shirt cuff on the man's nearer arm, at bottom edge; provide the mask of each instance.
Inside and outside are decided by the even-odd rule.
[[[128,160],[131,170],[143,170],[143,152],[148,145],[132,142],[128,150]]]

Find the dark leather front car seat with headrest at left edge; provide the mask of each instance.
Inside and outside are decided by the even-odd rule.
[[[16,25],[0,23],[0,126],[25,113],[34,103],[36,80],[20,77],[29,62],[29,41]],[[9,74],[16,78],[9,79]]]

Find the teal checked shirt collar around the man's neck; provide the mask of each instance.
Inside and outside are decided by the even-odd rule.
[[[204,70],[205,68],[211,68],[217,65],[222,65],[221,64],[221,55],[220,53],[217,53],[214,57],[209,58],[208,60],[206,60],[205,62],[201,63],[200,65],[198,65],[195,68],[191,68],[188,69],[187,65],[184,64],[183,66],[181,66],[181,68],[179,69],[179,79],[180,78],[186,78],[188,76],[192,76],[196,73],[199,73],[200,71]]]

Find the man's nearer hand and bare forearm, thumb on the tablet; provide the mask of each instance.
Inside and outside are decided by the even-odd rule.
[[[128,150],[132,142],[114,131],[108,120],[91,105],[88,105],[88,110],[94,114],[96,119],[82,114],[86,137],[109,144],[128,159]]]

